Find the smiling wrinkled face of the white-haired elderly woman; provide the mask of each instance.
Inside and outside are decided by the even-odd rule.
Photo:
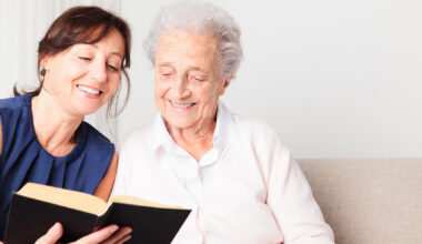
[[[214,38],[175,31],[161,35],[155,55],[155,104],[168,125],[201,129],[214,121],[221,75]]]

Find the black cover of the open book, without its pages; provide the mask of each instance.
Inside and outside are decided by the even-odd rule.
[[[13,194],[6,244],[34,243],[56,223],[63,225],[60,242],[69,243],[108,224],[130,226],[132,238],[125,243],[170,243],[190,210],[160,209],[113,203],[101,215],[64,207],[48,202]]]

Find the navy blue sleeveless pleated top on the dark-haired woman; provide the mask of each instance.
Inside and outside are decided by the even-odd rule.
[[[4,238],[13,192],[36,182],[93,194],[105,176],[114,145],[82,121],[78,141],[64,156],[52,156],[39,143],[32,121],[33,94],[0,100],[2,150],[0,154],[0,240]]]

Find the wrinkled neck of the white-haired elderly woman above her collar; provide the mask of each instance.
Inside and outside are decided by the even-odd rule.
[[[172,128],[169,123],[165,123],[165,126],[174,142],[199,162],[213,148],[215,124],[215,120],[212,119],[188,129]]]

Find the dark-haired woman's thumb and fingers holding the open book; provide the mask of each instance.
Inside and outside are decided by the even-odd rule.
[[[121,244],[131,238],[130,227],[119,228],[115,224],[105,226],[92,234],[89,234],[71,244]],[[60,223],[56,223],[43,236],[37,240],[36,244],[53,244],[59,241],[63,234],[63,226]],[[0,243],[2,244],[2,243]]]

